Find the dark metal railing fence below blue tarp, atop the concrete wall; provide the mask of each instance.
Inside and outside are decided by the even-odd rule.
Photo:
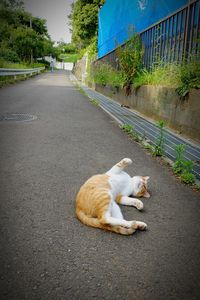
[[[144,45],[144,66],[182,62],[200,54],[200,0],[190,0],[172,15],[140,32]],[[99,61],[117,66],[116,49]]]

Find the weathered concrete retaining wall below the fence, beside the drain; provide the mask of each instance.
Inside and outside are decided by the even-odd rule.
[[[165,120],[168,127],[200,142],[200,90],[192,89],[182,100],[175,89],[162,86],[142,86],[128,97],[123,89],[97,84],[95,89],[154,120]]]

